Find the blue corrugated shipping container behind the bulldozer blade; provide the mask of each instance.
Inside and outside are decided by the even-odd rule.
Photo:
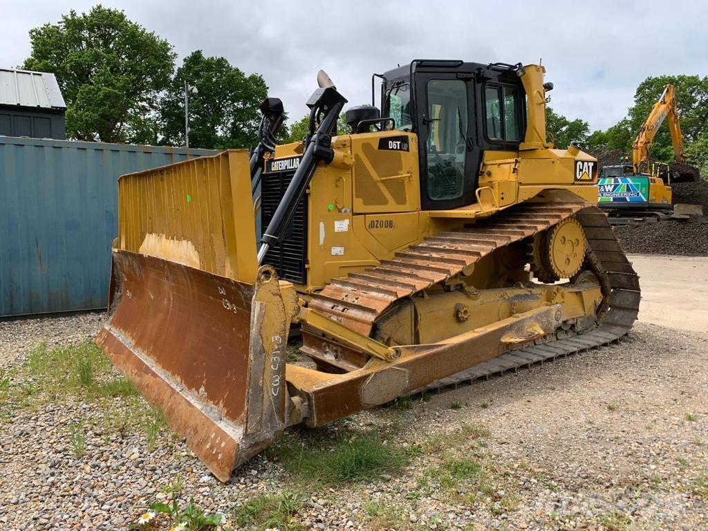
[[[105,307],[118,177],[215,153],[0,136],[0,316]]]

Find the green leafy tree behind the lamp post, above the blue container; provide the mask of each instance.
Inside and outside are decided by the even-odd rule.
[[[256,145],[261,121],[258,106],[268,96],[263,77],[246,75],[224,57],[205,57],[201,50],[185,57],[161,100],[161,143],[185,143],[185,81],[198,90],[189,94],[190,147],[229,149]]]

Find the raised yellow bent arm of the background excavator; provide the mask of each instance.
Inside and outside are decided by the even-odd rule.
[[[639,135],[636,136],[634,144],[632,144],[634,173],[641,173],[643,169],[649,166],[649,149],[651,149],[651,144],[654,142],[656,132],[666,118],[668,118],[675,158],[679,162],[686,161],[686,155],[683,152],[683,136],[681,135],[681,126],[678,120],[678,108],[676,106],[676,89],[673,85],[668,84],[664,87],[658,101],[654,103],[651,113],[649,113],[649,118],[646,118],[646,122],[641,126]]]

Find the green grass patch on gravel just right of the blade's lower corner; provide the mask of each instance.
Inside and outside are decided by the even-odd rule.
[[[409,462],[409,448],[387,444],[375,431],[310,430],[300,444],[290,438],[270,447],[292,474],[308,481],[338,483],[374,479],[399,471]]]

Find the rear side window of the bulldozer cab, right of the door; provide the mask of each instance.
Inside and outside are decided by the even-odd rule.
[[[491,85],[484,89],[486,136],[502,142],[521,139],[520,98],[515,86]]]

